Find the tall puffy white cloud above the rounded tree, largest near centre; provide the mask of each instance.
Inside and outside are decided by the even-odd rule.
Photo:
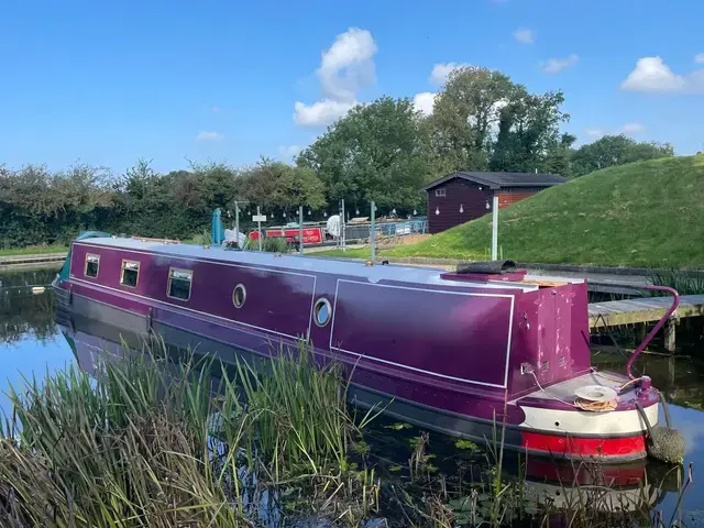
[[[356,102],[359,90],[375,82],[374,55],[378,51],[372,34],[350,28],[322,52],[316,76],[322,99],[306,105],[296,101],[294,121],[302,127],[323,127],[344,116]]]

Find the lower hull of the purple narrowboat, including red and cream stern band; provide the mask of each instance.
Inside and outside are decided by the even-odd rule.
[[[279,345],[250,330],[213,320],[184,318],[165,322],[154,318],[146,306],[118,308],[108,298],[96,300],[77,293],[63,298],[63,309],[70,314],[74,328],[113,342],[124,341],[138,350],[158,337],[169,346],[215,354],[224,363],[242,359],[252,364],[279,350]],[[112,329],[110,336],[105,336],[106,326]],[[282,340],[282,344],[296,342]],[[338,360],[322,350],[316,349],[316,353],[320,362]],[[352,404],[363,408],[383,406],[386,415],[421,428],[477,443],[503,443],[507,449],[551,459],[620,463],[646,457],[646,427],[636,409],[593,414],[521,406],[506,403],[492,392],[458,394],[439,384],[414,383],[393,371],[351,365],[350,373],[348,396]],[[484,410],[476,416],[457,413],[448,408],[448,398],[462,399],[463,408]],[[657,403],[647,403],[646,414],[651,424],[657,422]]]

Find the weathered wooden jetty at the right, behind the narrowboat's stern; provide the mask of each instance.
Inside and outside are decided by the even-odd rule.
[[[590,328],[598,330],[637,324],[645,336],[646,324],[657,322],[672,306],[672,297],[641,297],[588,305]],[[664,342],[674,352],[674,330],[680,319],[704,316],[704,295],[683,295],[680,306],[666,323]]]

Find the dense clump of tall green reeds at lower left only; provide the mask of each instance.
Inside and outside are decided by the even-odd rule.
[[[0,438],[0,525],[251,526],[292,482],[308,501],[289,515],[359,522],[377,484],[348,464],[359,430],[343,378],[311,361],[301,345],[267,377],[240,362],[231,380],[147,349],[97,380],[70,367],[28,381]]]

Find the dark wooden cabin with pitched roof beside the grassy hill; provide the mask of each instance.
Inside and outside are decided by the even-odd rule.
[[[492,212],[494,196],[503,209],[547,187],[566,182],[557,174],[457,172],[426,185],[428,229],[439,233]]]

